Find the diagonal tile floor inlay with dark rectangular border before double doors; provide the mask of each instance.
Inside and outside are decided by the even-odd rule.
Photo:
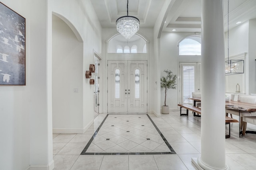
[[[107,114],[81,152],[81,155],[140,154],[176,154],[148,114]]]

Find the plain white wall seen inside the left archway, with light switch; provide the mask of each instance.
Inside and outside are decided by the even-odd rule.
[[[52,20],[52,127],[82,133],[83,43],[60,18]],[[74,88],[78,92],[74,92]]]

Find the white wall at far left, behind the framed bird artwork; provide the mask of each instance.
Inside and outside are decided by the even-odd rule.
[[[0,169],[28,169],[35,164],[46,167],[52,162],[46,92],[46,1],[1,2],[26,18],[26,86],[0,87]]]

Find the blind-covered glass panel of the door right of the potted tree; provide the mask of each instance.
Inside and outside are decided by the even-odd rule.
[[[195,91],[195,67],[183,66],[183,103],[190,103],[192,92]]]

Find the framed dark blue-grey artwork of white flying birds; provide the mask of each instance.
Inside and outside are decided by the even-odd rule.
[[[0,2],[0,85],[26,85],[26,19]]]

